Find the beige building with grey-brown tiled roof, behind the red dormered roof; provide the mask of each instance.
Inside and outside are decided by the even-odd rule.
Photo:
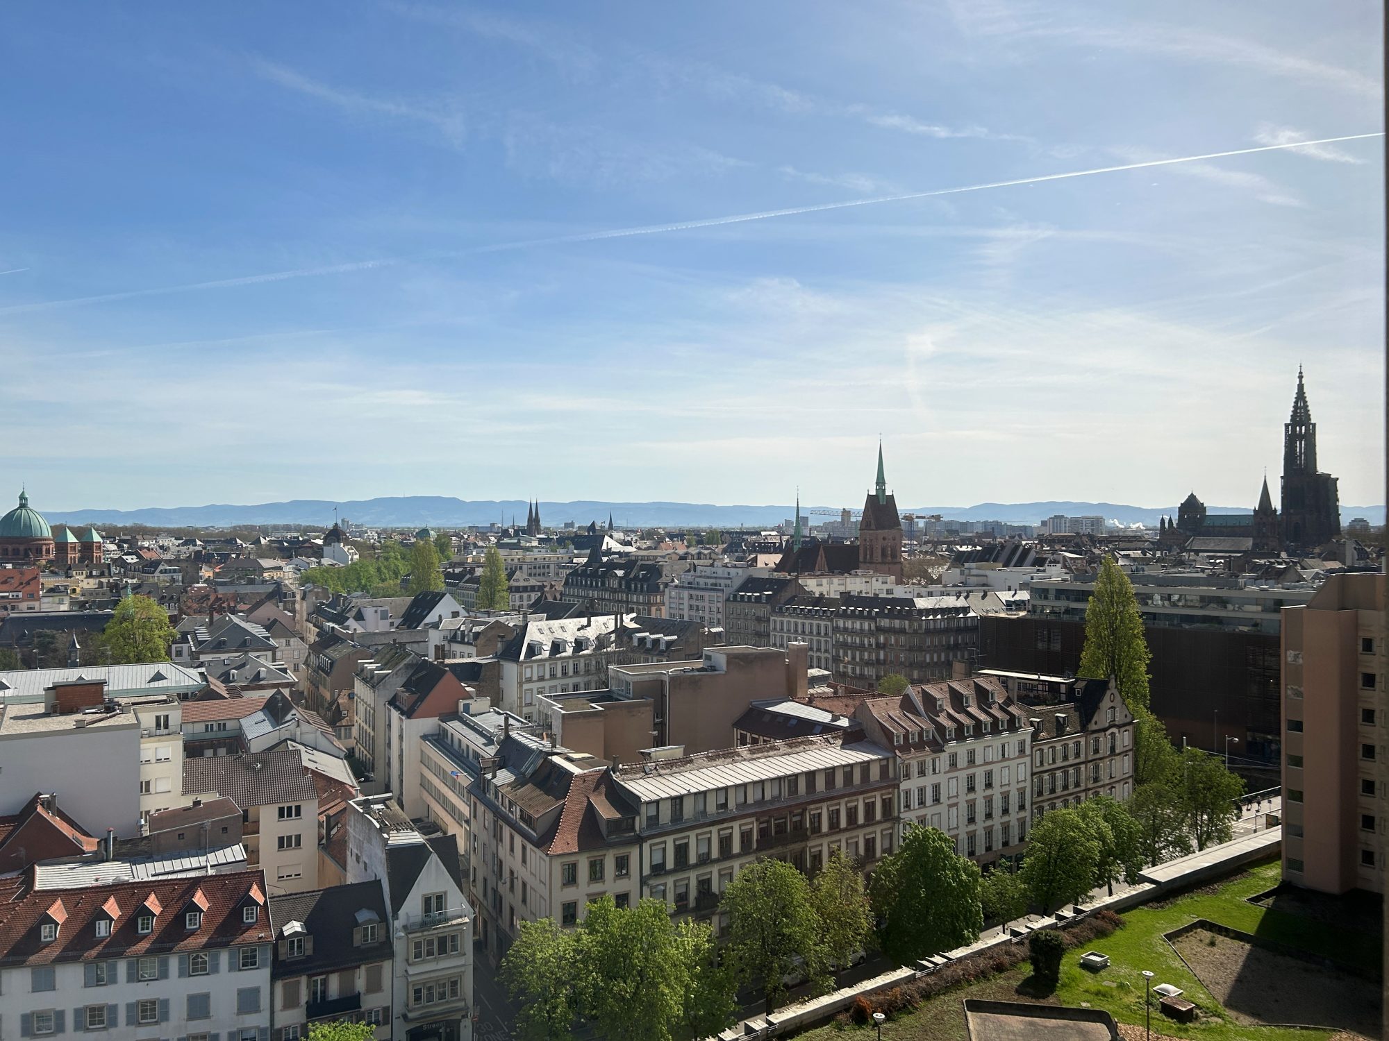
[[[297,750],[185,759],[183,791],[236,804],[246,861],[271,892],[318,888],[318,790]]]

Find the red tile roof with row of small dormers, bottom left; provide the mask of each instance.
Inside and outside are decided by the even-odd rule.
[[[63,890],[57,897],[53,890],[35,890],[32,872],[19,877],[17,887],[0,887],[3,966],[201,951],[268,942],[271,937],[260,869],[167,881],[89,886]],[[247,902],[260,908],[254,923],[242,919],[242,908]],[[113,905],[118,913],[114,915],[111,934],[99,937],[94,922],[113,916]],[[204,906],[206,911],[196,930],[186,927],[183,916],[183,908],[190,905]],[[56,908],[61,911],[61,917],[54,913]],[[154,929],[142,936],[136,931],[136,919],[146,908],[156,911]],[[54,919],[60,922],[58,938],[44,944],[39,924]]]

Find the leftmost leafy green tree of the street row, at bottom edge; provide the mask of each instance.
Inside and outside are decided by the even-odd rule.
[[[578,937],[554,919],[522,922],[501,959],[501,981],[521,1005],[517,1033],[524,1041],[565,1041],[578,1012],[575,966]]]

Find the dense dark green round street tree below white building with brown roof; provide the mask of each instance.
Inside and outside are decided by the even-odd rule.
[[[979,865],[935,827],[913,826],[868,884],[883,952],[899,965],[979,938]]]

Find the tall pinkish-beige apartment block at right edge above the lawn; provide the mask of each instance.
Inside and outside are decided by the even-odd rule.
[[[1282,612],[1283,879],[1383,892],[1385,576],[1332,575]]]

